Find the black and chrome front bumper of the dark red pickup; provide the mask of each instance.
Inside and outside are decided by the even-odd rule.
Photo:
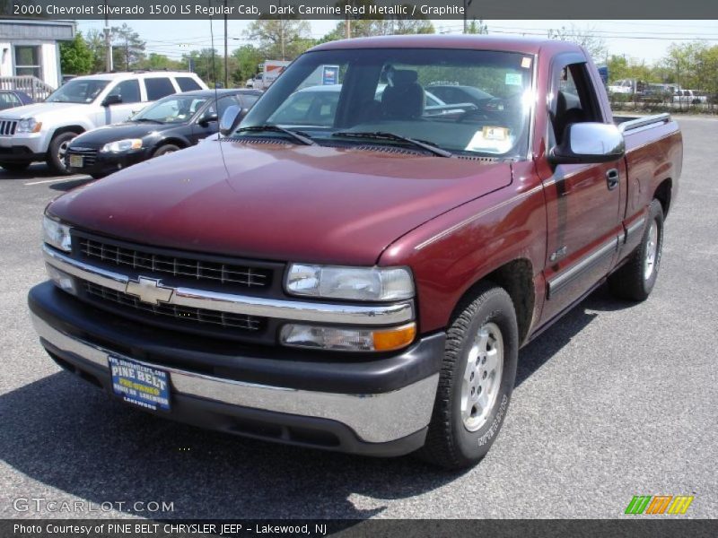
[[[372,456],[398,456],[424,444],[444,334],[398,355],[338,365],[313,360],[227,356],[207,343],[204,359],[170,331],[148,329],[83,304],[51,283],[29,296],[40,342],[57,363],[113,395],[108,355],[167,371],[171,412],[154,412],[214,430]],[[194,338],[197,343],[197,338]],[[172,347],[172,343],[176,347]],[[200,347],[201,347],[201,343]],[[234,363],[221,377],[206,360]],[[168,363],[163,357],[171,357]],[[197,368],[196,368],[197,367]],[[229,372],[226,366],[222,371]],[[230,377],[232,376],[232,377]],[[378,392],[380,389],[381,392]]]

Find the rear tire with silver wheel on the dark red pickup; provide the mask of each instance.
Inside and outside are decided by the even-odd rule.
[[[653,200],[648,209],[644,238],[616,273],[609,276],[609,289],[618,299],[648,299],[658,278],[663,250],[663,208]]]

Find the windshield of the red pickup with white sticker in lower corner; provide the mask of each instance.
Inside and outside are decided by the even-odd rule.
[[[256,137],[256,129],[241,128],[270,125],[320,144],[406,143],[401,136],[451,153],[525,156],[533,61],[526,54],[465,49],[309,52],[272,84],[234,135]],[[377,133],[392,136],[367,140]]]

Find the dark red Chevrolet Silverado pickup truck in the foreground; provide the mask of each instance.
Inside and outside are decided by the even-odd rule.
[[[337,41],[241,114],[48,205],[40,341],[128,404],[459,467],[522,345],[606,279],[652,291],[679,129],[612,117],[582,48]]]

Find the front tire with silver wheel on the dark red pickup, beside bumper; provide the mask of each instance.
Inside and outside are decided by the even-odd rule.
[[[416,453],[447,469],[486,456],[508,410],[519,355],[516,313],[503,288],[482,283],[457,311],[447,331],[425,446]]]

